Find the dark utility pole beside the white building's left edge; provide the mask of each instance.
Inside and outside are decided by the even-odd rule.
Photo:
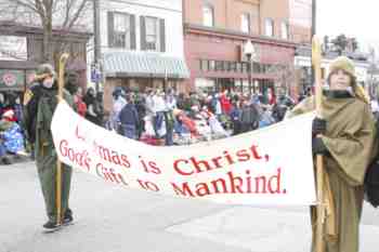
[[[93,0],[93,28],[94,28],[94,82],[96,83],[96,94],[100,91],[100,69],[101,69],[101,40],[100,40],[100,0]]]

